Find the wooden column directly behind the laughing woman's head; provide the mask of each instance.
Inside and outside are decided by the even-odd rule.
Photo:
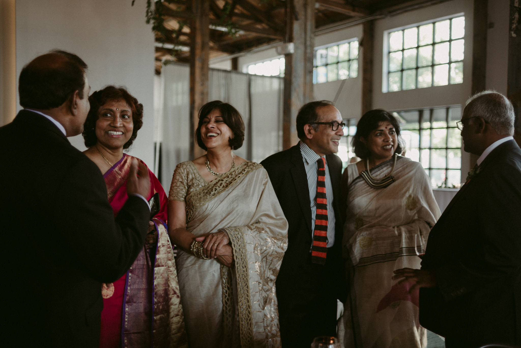
[[[190,21],[190,158],[205,152],[197,146],[194,136],[199,110],[208,102],[208,61],[210,41],[210,5],[206,0],[192,0],[193,17]]]

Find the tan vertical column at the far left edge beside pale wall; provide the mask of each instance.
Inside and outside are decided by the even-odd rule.
[[[16,116],[15,0],[0,0],[0,127]]]

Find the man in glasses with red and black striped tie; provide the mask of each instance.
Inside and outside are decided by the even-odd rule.
[[[300,142],[261,162],[289,224],[288,249],[276,282],[280,335],[286,347],[307,348],[316,336],[336,335],[344,277],[342,162],[334,153],[343,125],[340,112],[329,102],[307,103],[296,117]]]

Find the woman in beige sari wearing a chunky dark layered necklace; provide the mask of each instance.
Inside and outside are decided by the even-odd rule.
[[[440,216],[429,178],[401,157],[400,126],[387,111],[365,113],[353,138],[362,160],[342,177],[346,197],[343,255],[350,293],[342,325],[346,347],[426,347],[418,293],[391,279],[396,269],[419,268],[415,235],[427,239]]]

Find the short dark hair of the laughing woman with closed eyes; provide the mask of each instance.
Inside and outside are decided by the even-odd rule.
[[[203,126],[203,119],[214,109],[218,109],[221,112],[222,121],[230,127],[233,133],[233,138],[228,140],[230,147],[235,150],[239,149],[244,141],[244,122],[242,121],[241,114],[231,104],[223,103],[220,100],[208,102],[199,110],[199,124],[197,124],[197,129],[195,130],[197,145],[199,145],[201,149],[207,150],[201,138],[201,127]]]

